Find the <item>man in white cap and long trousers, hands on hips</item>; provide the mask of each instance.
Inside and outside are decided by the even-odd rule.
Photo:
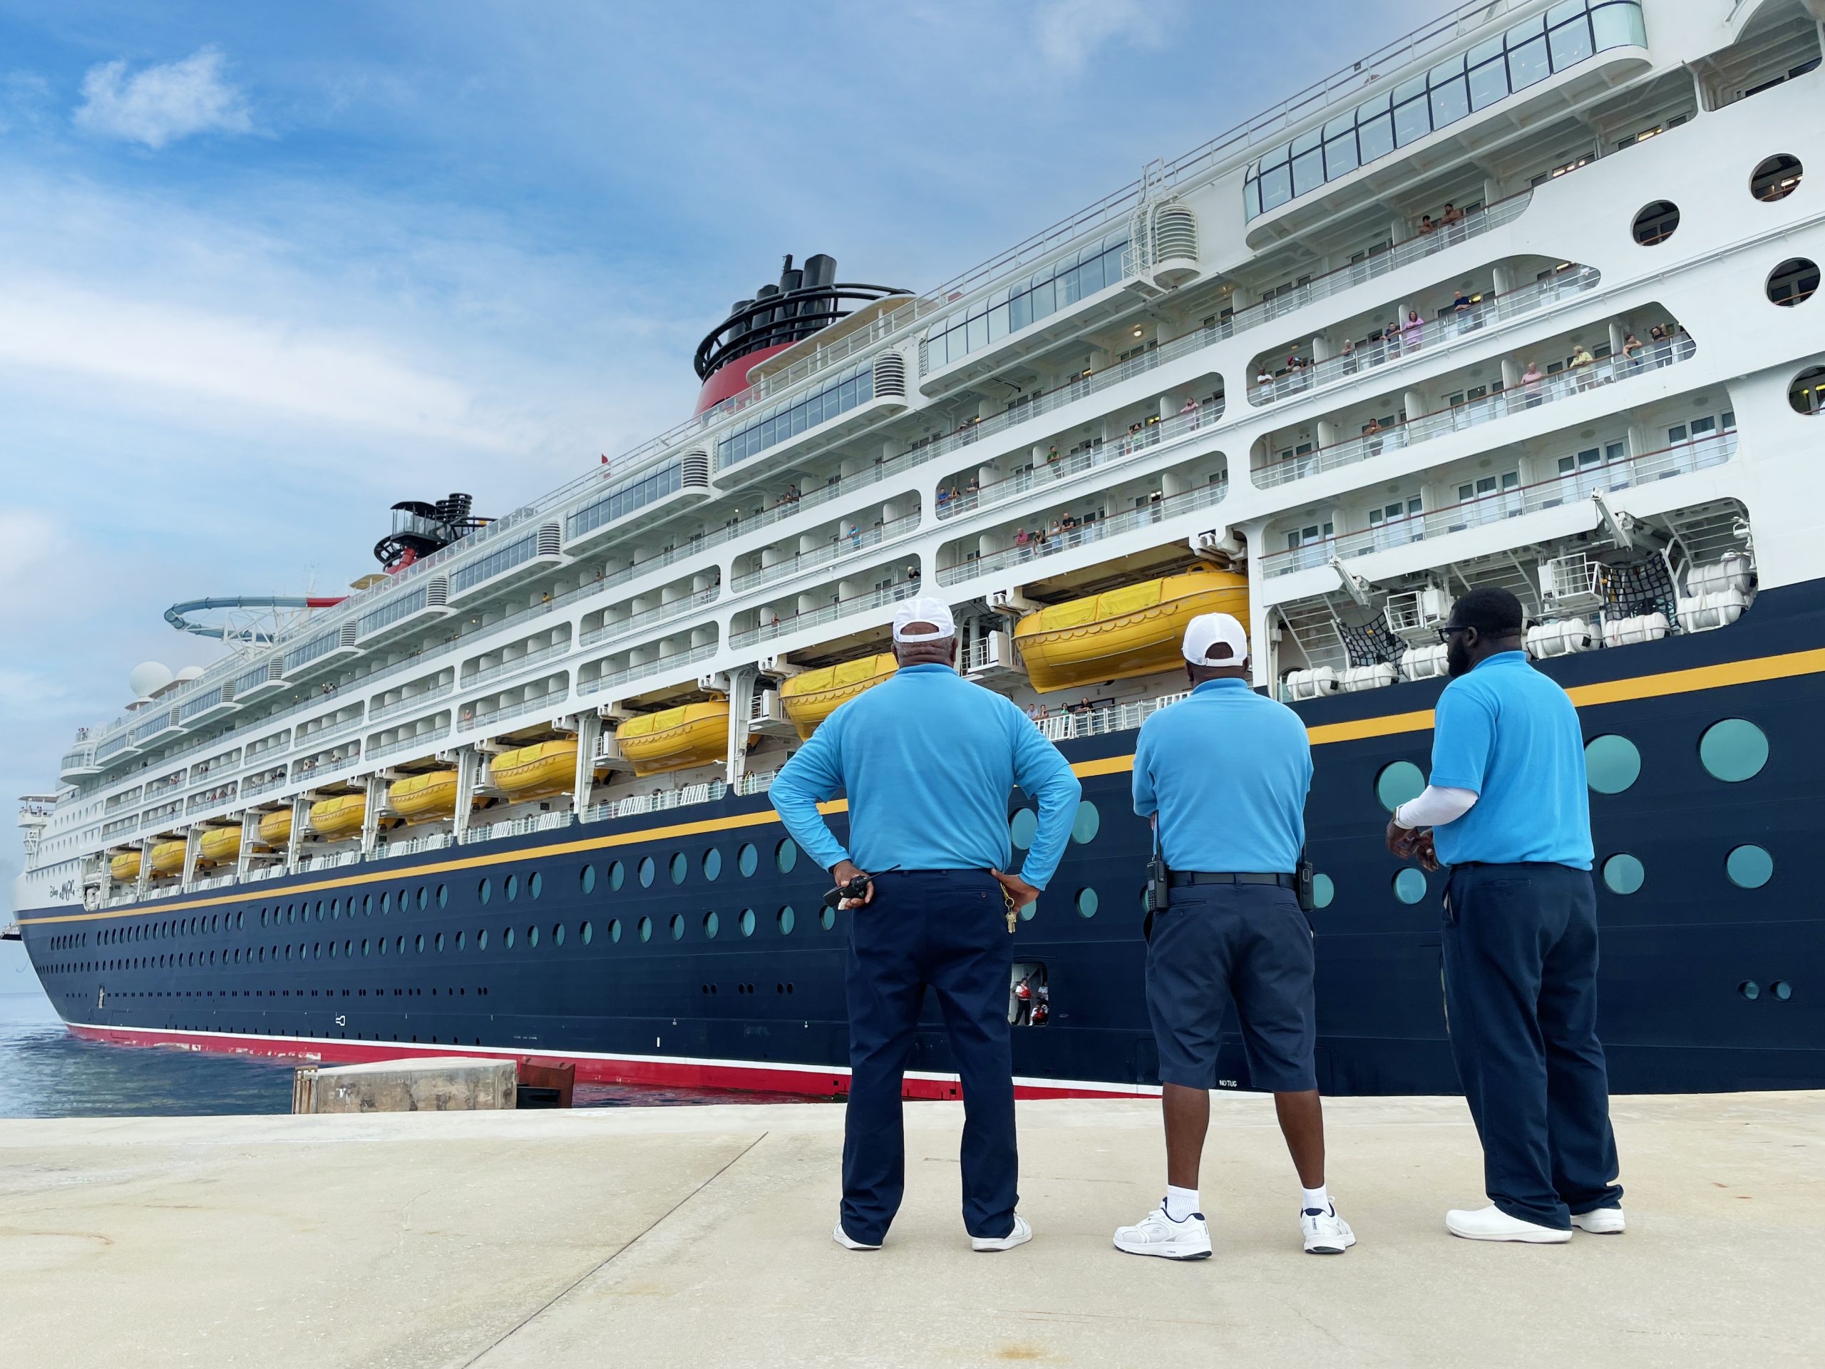
[[[1011,1250],[1033,1239],[1015,1214],[1015,913],[1057,871],[1082,787],[1013,699],[956,674],[949,604],[902,602],[892,637],[900,670],[832,712],[768,790],[787,832],[830,871],[852,913],[850,1088],[832,1238],[849,1250],[880,1249],[900,1210],[900,1099],[931,986],[964,1090],[964,1227],[973,1249]],[[1038,825],[1020,874],[1004,874],[1015,785],[1037,796]],[[849,847],[818,810],[840,792],[849,798]]]

